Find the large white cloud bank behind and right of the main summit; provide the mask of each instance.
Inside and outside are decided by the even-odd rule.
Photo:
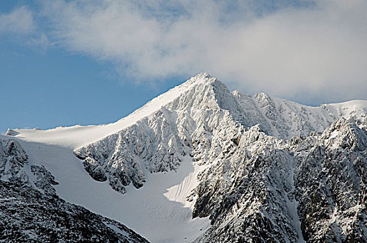
[[[206,71],[307,103],[367,99],[367,2],[284,2],[259,15],[254,1],[50,1],[44,15],[63,47],[136,80]]]

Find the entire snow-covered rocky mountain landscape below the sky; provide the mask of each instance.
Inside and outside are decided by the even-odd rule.
[[[202,73],[113,124],[8,130],[0,176],[2,242],[367,242],[367,101]]]

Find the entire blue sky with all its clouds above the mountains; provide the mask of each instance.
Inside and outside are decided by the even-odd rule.
[[[0,133],[116,121],[197,74],[367,99],[365,1],[0,1]]]

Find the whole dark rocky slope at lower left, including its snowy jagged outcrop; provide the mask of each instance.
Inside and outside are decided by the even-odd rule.
[[[60,199],[54,179],[43,166],[29,165],[16,140],[0,140],[0,242],[147,242],[117,221]]]

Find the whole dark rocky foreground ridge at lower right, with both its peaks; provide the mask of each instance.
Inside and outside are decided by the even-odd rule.
[[[366,242],[366,139],[345,119],[290,141],[251,128],[201,175],[197,242]]]

